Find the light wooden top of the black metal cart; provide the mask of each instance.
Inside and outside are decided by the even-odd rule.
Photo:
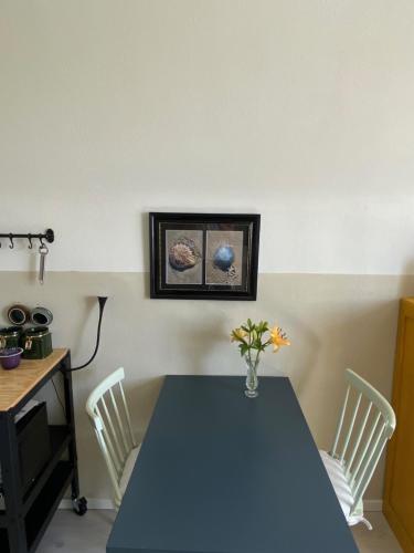
[[[67,354],[66,348],[53,349],[44,359],[22,359],[17,368],[0,366],[0,411],[18,405],[23,397]]]

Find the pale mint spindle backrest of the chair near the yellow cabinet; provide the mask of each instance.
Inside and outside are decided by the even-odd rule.
[[[348,389],[330,455],[343,463],[353,510],[370,483],[396,421],[389,401],[367,380],[349,368],[346,379]]]

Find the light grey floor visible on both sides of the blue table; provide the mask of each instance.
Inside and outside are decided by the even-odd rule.
[[[363,524],[353,528],[361,553],[401,553],[394,534],[382,513],[367,513],[374,530]],[[38,553],[105,553],[105,544],[115,520],[114,511],[88,511],[77,517],[72,511],[57,511]],[[87,545],[86,545],[87,544]]]

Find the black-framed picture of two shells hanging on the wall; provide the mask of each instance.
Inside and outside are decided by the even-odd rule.
[[[259,215],[149,213],[151,298],[256,300]]]

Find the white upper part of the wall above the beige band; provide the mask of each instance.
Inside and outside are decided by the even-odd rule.
[[[148,270],[152,209],[261,212],[261,272],[414,273],[413,2],[0,7],[0,232],[50,269]]]

